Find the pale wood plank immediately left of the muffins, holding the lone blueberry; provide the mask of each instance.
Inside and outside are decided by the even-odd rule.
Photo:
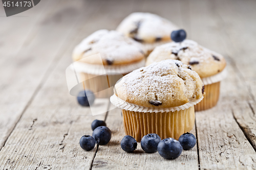
[[[108,9],[105,3],[101,3],[90,6],[90,15]],[[51,69],[53,74],[41,84],[41,89],[0,152],[0,168],[91,168],[97,149],[82,151],[79,139],[84,134],[92,134],[92,121],[95,118],[104,119],[105,115],[92,116],[89,108],[77,105],[75,98],[68,93],[65,69],[71,63],[74,46],[108,20],[105,21],[105,17],[86,20],[89,17],[84,18],[83,15],[77,19],[78,25],[67,38],[64,45],[67,49],[63,50],[65,55],[59,57],[61,61],[57,68]],[[82,19],[84,22],[81,22]]]

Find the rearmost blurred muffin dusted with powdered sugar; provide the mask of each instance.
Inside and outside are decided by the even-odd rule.
[[[177,29],[172,22],[156,14],[135,12],[124,18],[116,30],[141,42],[148,55],[157,45],[170,42],[170,33]]]

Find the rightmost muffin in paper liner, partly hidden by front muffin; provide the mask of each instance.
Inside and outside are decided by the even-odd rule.
[[[202,79],[205,95],[202,102],[195,106],[196,111],[209,109],[217,104],[220,81],[226,75],[226,61],[222,55],[208,50],[195,41],[184,40],[157,46],[147,57],[146,65],[166,59],[180,60],[189,65]]]

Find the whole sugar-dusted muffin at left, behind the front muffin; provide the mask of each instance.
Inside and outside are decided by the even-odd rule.
[[[73,61],[85,89],[108,98],[123,75],[144,66],[140,43],[117,31],[99,30],[83,39],[73,51]]]

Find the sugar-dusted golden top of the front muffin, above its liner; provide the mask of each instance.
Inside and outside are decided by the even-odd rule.
[[[204,93],[197,72],[178,60],[163,60],[134,70],[115,85],[121,100],[143,107],[177,107]]]

